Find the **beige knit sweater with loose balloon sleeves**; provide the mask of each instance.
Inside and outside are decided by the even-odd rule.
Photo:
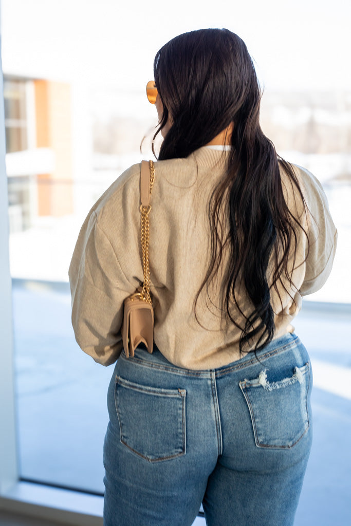
[[[169,361],[189,369],[217,368],[240,358],[240,330],[226,324],[215,285],[209,290],[210,301],[205,292],[199,297],[197,313],[201,325],[194,316],[194,298],[208,265],[208,199],[223,175],[227,155],[203,147],[186,159],[155,163],[149,215],[154,340]],[[69,267],[76,340],[83,351],[103,365],[113,363],[122,351],[123,301],[143,281],[140,168],[137,164],[126,170],[93,206]],[[306,217],[296,192],[294,195],[290,181],[282,173],[287,204],[294,215],[301,217],[310,248],[304,262],[307,241],[301,232],[292,269],[295,287],[291,288],[288,281],[284,283],[295,303],[282,284],[281,302],[271,289],[275,337],[293,330],[290,322],[301,307],[302,296],[323,286],[336,249],[337,231],[322,187],[307,170],[294,169],[314,220]],[[249,313],[251,306],[245,291],[238,294],[242,310]],[[236,319],[244,325],[238,312]]]

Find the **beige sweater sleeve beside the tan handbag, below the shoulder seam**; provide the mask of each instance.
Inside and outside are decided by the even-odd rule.
[[[68,275],[77,343],[96,362],[110,365],[123,349],[123,301],[131,284],[94,210],[79,233]]]

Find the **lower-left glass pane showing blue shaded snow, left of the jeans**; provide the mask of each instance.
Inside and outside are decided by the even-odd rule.
[[[14,279],[13,304],[21,476],[103,493],[111,369],[78,348],[68,284]]]

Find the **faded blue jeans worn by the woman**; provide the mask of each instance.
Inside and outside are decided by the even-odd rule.
[[[108,390],[104,526],[288,526],[312,441],[312,371],[296,335],[195,371],[154,348]]]

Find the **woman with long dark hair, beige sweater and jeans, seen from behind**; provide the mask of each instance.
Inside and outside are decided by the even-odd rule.
[[[69,276],[82,349],[109,365],[104,524],[293,524],[312,440],[312,371],[290,322],[332,268],[318,181],[259,127],[244,42],[174,38],[154,62],[164,141],[150,218],[154,352],[122,349],[143,282],[140,165],[89,213]]]

